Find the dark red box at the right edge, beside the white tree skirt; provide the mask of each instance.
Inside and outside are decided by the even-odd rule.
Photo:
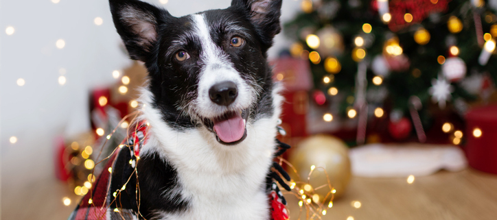
[[[474,108],[466,114],[467,162],[497,174],[497,106]]]

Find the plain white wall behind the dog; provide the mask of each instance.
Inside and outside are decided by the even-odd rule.
[[[163,5],[159,0],[148,2]],[[227,8],[230,2],[169,0],[164,6],[172,15],[183,16]],[[299,3],[284,0],[283,21],[292,18]],[[125,68],[130,60],[119,49],[108,1],[2,0],[0,14],[1,176],[5,189],[53,173],[54,138],[89,129],[89,90],[112,84],[112,71]],[[95,25],[96,17],[102,18],[102,25]],[[14,28],[13,34],[7,33],[12,31],[8,27]],[[56,47],[59,39],[65,41],[62,49]],[[288,45],[282,34],[275,41],[272,58]],[[67,79],[62,86],[58,84],[61,75]],[[23,86],[18,86],[19,78],[25,80]],[[11,136],[16,136],[16,143],[10,143]]]

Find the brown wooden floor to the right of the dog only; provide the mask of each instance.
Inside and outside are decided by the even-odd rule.
[[[323,219],[497,219],[497,175],[466,169],[415,178],[413,184],[406,180],[352,178]],[[288,200],[290,219],[299,219],[298,200]],[[360,201],[360,208],[354,208],[353,201]]]

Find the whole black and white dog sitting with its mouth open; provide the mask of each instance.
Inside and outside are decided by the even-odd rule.
[[[130,57],[149,72],[139,100],[150,123],[137,163],[141,215],[270,219],[282,97],[266,53],[281,0],[233,0],[179,18],[137,0],[110,4]]]

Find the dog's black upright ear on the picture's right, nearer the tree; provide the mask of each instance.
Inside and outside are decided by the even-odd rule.
[[[249,12],[251,23],[264,34],[269,42],[281,31],[279,16],[282,0],[232,0],[231,6]]]

